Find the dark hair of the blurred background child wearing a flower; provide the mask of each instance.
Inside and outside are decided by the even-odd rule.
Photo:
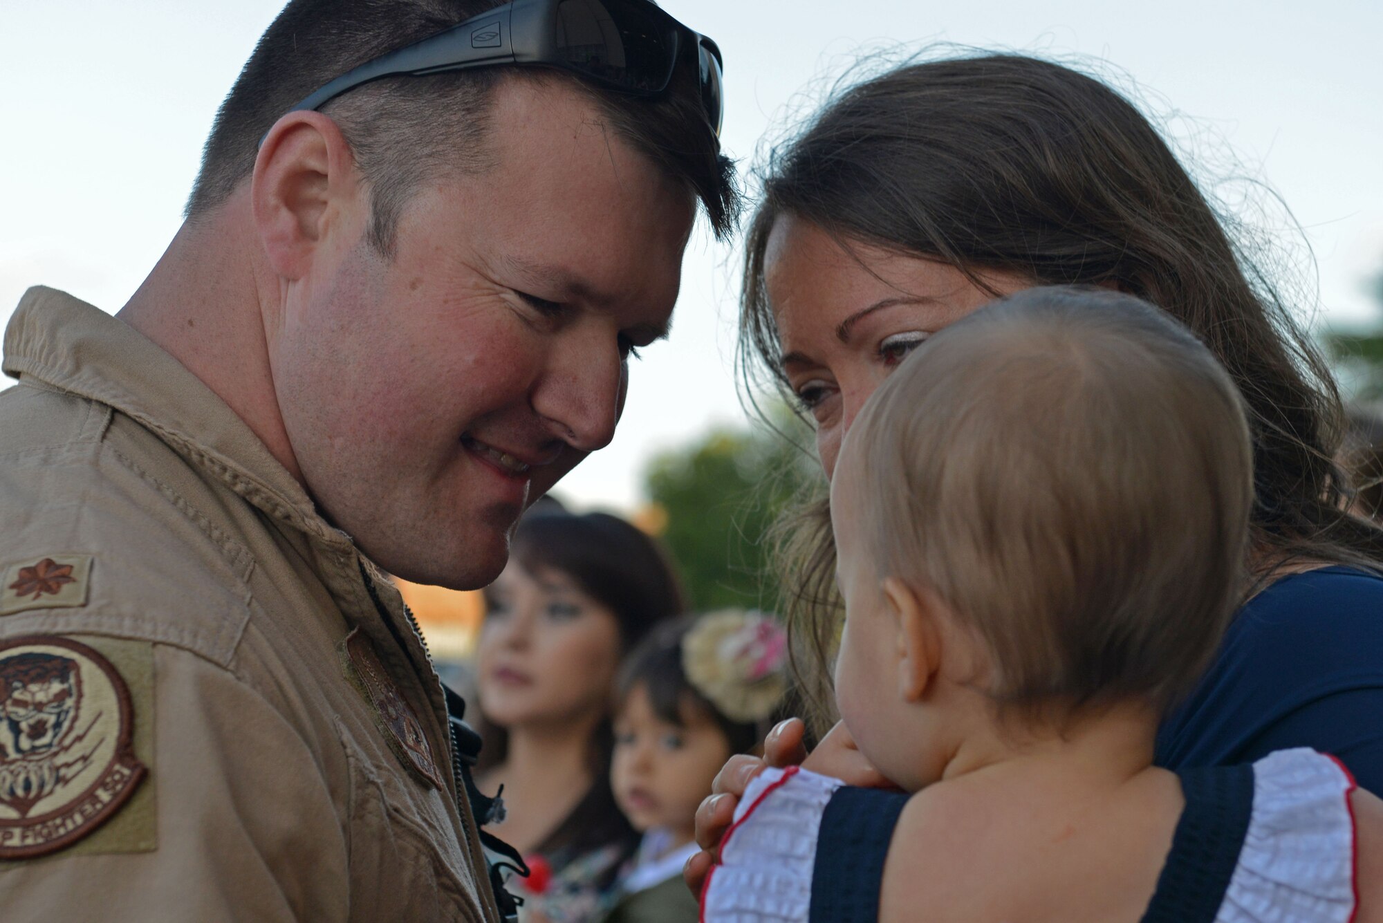
[[[715,721],[730,745],[730,753],[751,753],[768,731],[769,721],[736,721],[697,691],[682,667],[682,640],[696,626],[696,616],[660,625],[620,667],[615,688],[618,705],[643,685],[653,713],[668,724],[686,725],[687,707],[697,709]]]

